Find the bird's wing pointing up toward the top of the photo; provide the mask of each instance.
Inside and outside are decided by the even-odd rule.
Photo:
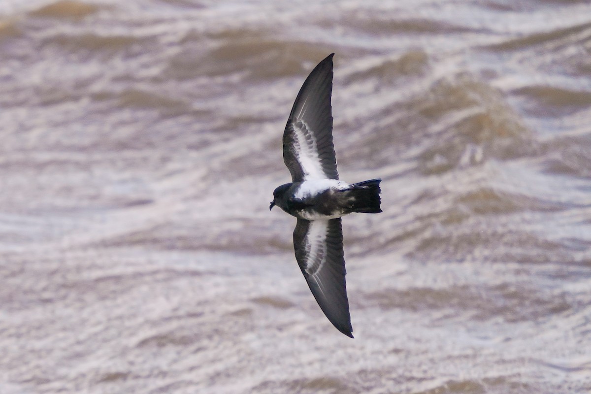
[[[283,133],[283,160],[293,182],[339,179],[332,139],[333,54],[321,61],[300,89]]]

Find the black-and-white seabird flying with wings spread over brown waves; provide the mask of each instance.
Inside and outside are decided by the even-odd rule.
[[[283,133],[283,161],[291,183],[273,192],[274,206],[297,217],[296,260],[320,309],[353,338],[345,282],[341,216],[379,213],[381,179],[339,180],[332,137],[332,53],[304,81]]]

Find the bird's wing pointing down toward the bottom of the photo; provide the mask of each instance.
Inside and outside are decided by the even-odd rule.
[[[330,323],[353,338],[345,282],[343,231],[339,219],[298,219],[294,249],[301,272]]]

